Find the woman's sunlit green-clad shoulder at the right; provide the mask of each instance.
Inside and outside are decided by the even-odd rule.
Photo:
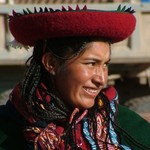
[[[140,146],[142,146],[144,150],[150,149],[150,123],[137,113],[122,105],[118,105],[117,119],[121,129],[127,133],[124,135],[122,134],[123,141],[127,142],[126,136],[128,136],[130,137],[129,139],[134,139],[137,150],[141,149]],[[145,146],[148,148],[144,148]]]

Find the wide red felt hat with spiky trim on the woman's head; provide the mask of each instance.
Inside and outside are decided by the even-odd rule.
[[[135,29],[134,10],[119,5],[115,11],[90,10],[79,6],[73,10],[34,9],[13,12],[9,27],[15,40],[34,46],[36,41],[60,37],[100,37],[115,43],[129,37]]]

